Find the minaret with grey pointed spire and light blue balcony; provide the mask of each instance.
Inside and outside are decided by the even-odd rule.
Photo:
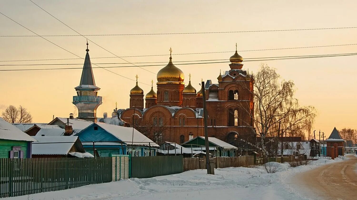
[[[82,70],[79,86],[75,87],[77,96],[73,96],[73,104],[78,108],[78,119],[97,122],[97,107],[102,104],[102,97],[98,95],[98,88],[95,85],[92,64],[89,58],[87,41],[86,58]]]

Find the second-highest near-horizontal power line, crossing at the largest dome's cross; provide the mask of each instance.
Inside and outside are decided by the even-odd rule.
[[[336,44],[336,45],[325,45],[325,46],[308,46],[308,47],[288,47],[288,48],[273,48],[273,49],[252,49],[252,50],[243,50],[239,52],[251,52],[251,51],[272,51],[272,50],[284,50],[284,49],[304,49],[304,48],[318,48],[318,47],[338,47],[338,46],[351,46],[355,44]],[[210,53],[233,53],[234,51],[220,51],[220,52],[200,52],[200,53],[177,53],[172,54],[173,56],[177,55],[192,55],[192,54],[210,54]],[[142,55],[142,56],[120,56],[120,58],[129,58],[129,57],[151,57],[151,56],[170,56],[170,54],[156,54],[156,55]],[[97,58],[118,58],[118,57],[94,57],[91,59]],[[17,61],[44,61],[44,60],[76,60],[81,58],[60,58],[60,59],[35,59],[35,60],[0,60],[0,62],[17,62]]]

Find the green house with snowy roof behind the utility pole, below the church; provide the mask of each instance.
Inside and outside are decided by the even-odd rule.
[[[193,151],[206,152],[205,137],[202,136],[192,138],[191,140],[184,142],[182,146],[192,148]],[[208,137],[208,146],[210,148],[210,153],[214,156],[235,157],[237,155],[237,147],[215,137]]]

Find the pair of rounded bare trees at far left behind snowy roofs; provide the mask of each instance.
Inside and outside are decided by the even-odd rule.
[[[26,108],[21,105],[16,108],[10,105],[2,112],[2,118],[10,123],[30,123],[32,122],[32,116]]]

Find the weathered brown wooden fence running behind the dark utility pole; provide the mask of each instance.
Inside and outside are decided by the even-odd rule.
[[[254,165],[254,156],[215,157],[211,159],[215,168],[242,167]],[[183,170],[206,169],[205,158],[183,158]]]

